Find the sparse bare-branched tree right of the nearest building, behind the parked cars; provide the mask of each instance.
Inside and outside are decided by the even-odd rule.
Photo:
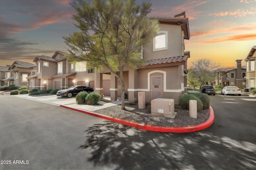
[[[203,84],[212,82],[216,78],[214,70],[219,67],[219,64],[214,63],[210,59],[198,59],[192,62],[191,68],[188,70],[191,76],[191,81],[200,82],[200,87]]]

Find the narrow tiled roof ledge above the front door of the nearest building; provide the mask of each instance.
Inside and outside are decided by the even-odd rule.
[[[179,57],[168,57],[164,59],[154,59],[154,60],[148,60],[145,62],[145,65],[153,65],[153,64],[162,64],[162,63],[176,63],[176,62],[182,62],[187,61],[188,55],[179,56]]]

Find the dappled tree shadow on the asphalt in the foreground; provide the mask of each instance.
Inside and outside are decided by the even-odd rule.
[[[157,133],[111,121],[86,131],[80,149],[95,166],[126,169],[253,169],[256,145],[212,133]]]

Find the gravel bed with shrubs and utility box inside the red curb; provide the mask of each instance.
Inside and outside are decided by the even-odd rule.
[[[109,102],[101,99],[98,104]],[[151,114],[151,105],[146,104],[145,109],[138,109],[138,104],[125,104],[125,110],[121,109],[120,105],[107,107],[104,109],[96,110],[95,113],[108,115],[111,117],[124,119],[145,125],[158,126],[158,127],[188,127],[199,125],[209,119],[210,110],[205,109],[197,113],[197,119],[189,116],[189,111],[175,106],[174,111],[177,112],[174,118],[164,117]]]

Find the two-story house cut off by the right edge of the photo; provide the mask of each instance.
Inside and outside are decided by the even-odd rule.
[[[256,88],[256,72],[255,72],[255,58],[256,58],[256,46],[253,46],[247,55],[246,59],[246,91]]]

